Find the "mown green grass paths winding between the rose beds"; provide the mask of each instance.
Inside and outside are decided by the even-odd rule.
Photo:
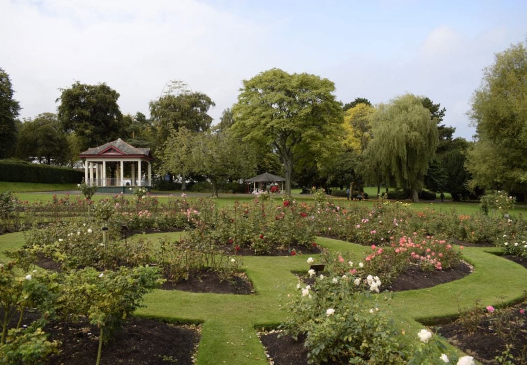
[[[175,238],[180,233],[163,234]],[[147,235],[147,237],[155,237]],[[317,238],[317,243],[333,251],[350,252],[355,260],[364,257],[368,247]],[[24,244],[22,233],[0,236],[0,251]],[[423,328],[419,322],[454,318],[457,300],[468,309],[480,300],[482,306],[513,303],[527,290],[527,270],[519,264],[496,256],[497,248],[466,247],[463,255],[474,273],[431,288],[397,292],[392,309],[407,335],[415,337]],[[310,255],[316,257],[317,255]],[[0,261],[5,256],[0,255]],[[298,295],[298,282],[292,271],[307,271],[306,255],[257,257],[244,256],[243,269],[251,279],[255,295],[220,295],[155,290],[145,296],[145,308],[136,315],[168,321],[202,323],[198,365],[267,364],[264,349],[256,335],[257,328],[268,328],[285,319],[281,309],[287,296]]]

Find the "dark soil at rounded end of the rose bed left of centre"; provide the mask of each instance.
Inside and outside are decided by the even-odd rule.
[[[252,283],[245,273],[238,273],[227,280],[215,272],[203,270],[193,273],[188,280],[173,282],[167,280],[161,286],[164,290],[182,290],[193,293],[253,294]]]

